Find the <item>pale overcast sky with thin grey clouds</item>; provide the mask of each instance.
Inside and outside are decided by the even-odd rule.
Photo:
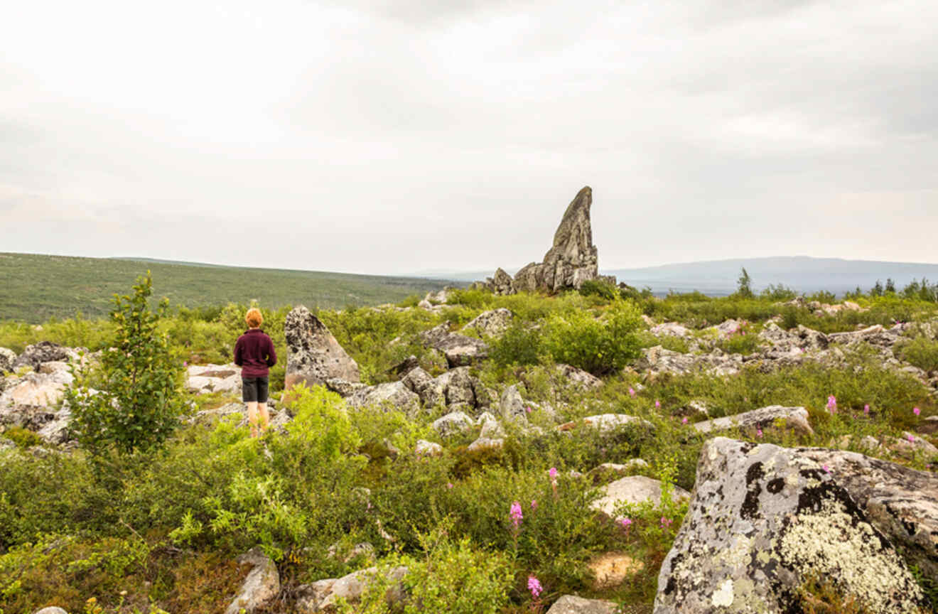
[[[934,0],[0,7],[0,251],[938,262]]]

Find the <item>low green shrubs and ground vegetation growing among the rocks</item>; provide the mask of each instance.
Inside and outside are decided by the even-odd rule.
[[[794,297],[789,292],[655,298],[593,283],[583,292],[559,296],[461,290],[433,311],[316,310],[356,359],[363,381],[377,383],[396,379],[392,367],[410,355],[431,374],[442,372],[445,365],[422,346],[419,332],[443,322],[455,330],[483,310],[507,307],[514,322],[503,337],[490,339],[491,359],[473,367],[481,382],[496,391],[517,384],[525,399],[555,408],[568,420],[603,412],[638,416],[653,425],[654,435],[645,427],[619,427],[570,437],[553,428],[546,409],[534,409],[530,420],[542,427],[541,435],[507,425],[503,448],[473,451],[467,447],[473,437],[441,438],[431,428],[438,411],[415,416],[348,409],[322,387],[291,396],[294,418],[282,433],[250,439],[240,416],[183,421],[158,446],[136,446],[139,453],[113,455],[104,466],[94,462],[96,448],[87,440],[60,454],[38,446],[29,431],[8,429],[2,436],[17,448],[0,451],[0,612],[49,605],[72,613],[222,612],[246,573],[235,557],[258,545],[277,562],[284,596],[303,583],[371,564],[402,564],[409,569],[405,586],[415,597],[403,606],[405,612],[416,612],[415,604],[432,612],[542,612],[573,592],[649,612],[658,567],[687,511],[667,493],[693,487],[703,444],[691,427],[702,419],[688,410],[691,402],[705,406],[711,417],[765,405],[804,406],[813,436],[782,425],[733,435],[819,446],[850,436],[847,447],[855,450],[866,435],[901,436],[938,413],[925,385],[884,367],[870,352],[849,352],[848,368],[804,363],[764,372],[747,366],[731,377],[647,379],[631,368],[643,347],[664,343],[689,349],[685,339],[652,335],[642,315],[683,322],[695,331],[691,338],[704,340],[702,330],[709,325],[746,321],[740,333],[712,340],[724,352],[751,352],[770,319],[784,328],[834,332],[938,316],[935,303],[896,292],[855,296],[863,310],[819,315],[806,304],[788,303]],[[401,302],[413,305],[414,297]],[[154,321],[157,337],[167,344],[159,355],[173,363],[167,372],[230,361],[248,307],[174,307]],[[261,308],[265,331],[280,354],[271,373],[272,389],[279,393],[289,306]],[[0,322],[0,347],[22,352],[27,344],[48,339],[97,352],[121,347],[115,344],[125,333],[123,323],[113,319],[75,316],[42,322],[41,328],[6,321]],[[934,370],[935,345],[914,333],[897,352]],[[586,392],[558,380],[557,363],[590,371],[604,385]],[[126,366],[105,360],[104,367],[113,374]],[[830,397],[837,399],[837,412],[829,409]],[[204,409],[237,399],[186,400],[193,409]],[[443,455],[414,454],[420,439],[442,443]],[[876,454],[936,470],[927,457]],[[589,504],[604,480],[589,471],[630,458],[647,461],[630,472],[662,481],[661,502],[622,510],[628,523],[591,512]],[[365,542],[375,548],[374,562],[368,554],[345,556]],[[642,564],[627,582],[600,588],[588,563],[610,552]],[[921,583],[934,595],[929,578]],[[383,588],[375,582],[361,604],[345,611],[389,611]],[[453,594],[459,594],[456,601]],[[820,580],[806,585],[801,598],[806,611],[863,611]],[[284,600],[269,611],[285,607]]]

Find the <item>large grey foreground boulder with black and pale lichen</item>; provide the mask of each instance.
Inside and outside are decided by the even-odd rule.
[[[923,605],[886,536],[817,461],[777,445],[705,442],[655,614],[801,611],[797,593],[812,578],[873,612]]]

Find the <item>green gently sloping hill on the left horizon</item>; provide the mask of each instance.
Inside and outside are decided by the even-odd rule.
[[[76,258],[0,252],[0,320],[43,322],[50,317],[107,314],[113,293],[130,292],[149,269],[153,294],[172,305],[204,307],[257,299],[265,307],[338,308],[397,302],[452,282],[172,262],[129,258]]]

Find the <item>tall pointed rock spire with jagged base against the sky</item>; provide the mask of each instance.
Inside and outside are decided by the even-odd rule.
[[[593,245],[590,223],[592,204],[592,188],[583,187],[567,205],[544,260],[523,267],[510,284],[507,273],[498,269],[495,277],[486,280],[486,287],[496,294],[560,292],[568,288],[579,289],[584,281],[598,278],[598,249]]]

